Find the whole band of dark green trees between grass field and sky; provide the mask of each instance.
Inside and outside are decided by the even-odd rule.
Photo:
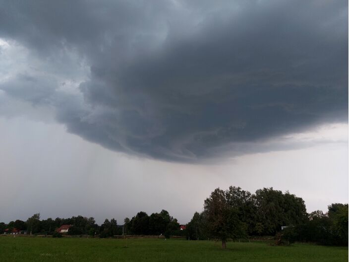
[[[100,238],[115,235],[182,236],[189,240],[217,238],[225,245],[225,241],[231,239],[278,236],[288,244],[302,241],[348,245],[348,204],[332,203],[326,213],[321,210],[307,213],[304,200],[289,192],[263,188],[251,194],[232,186],[226,191],[216,189],[212,192],[204,201],[204,210],[195,212],[182,230],[177,219],[163,209],[151,215],[140,211],[119,224],[114,218],[106,219],[101,225],[93,217],[78,215],[40,220],[37,213],[26,221],[1,222],[0,234],[16,229],[25,230],[27,234],[60,237],[56,230],[62,225],[71,225],[68,235]]]

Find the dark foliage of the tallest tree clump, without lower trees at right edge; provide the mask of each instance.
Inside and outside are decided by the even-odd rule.
[[[224,222],[229,220],[234,223]],[[190,239],[216,237],[224,240],[241,238],[244,234],[273,235],[281,226],[292,227],[306,221],[308,216],[300,197],[273,188],[257,190],[253,195],[231,186],[226,191],[216,189],[206,199],[204,212],[194,214],[186,231]]]

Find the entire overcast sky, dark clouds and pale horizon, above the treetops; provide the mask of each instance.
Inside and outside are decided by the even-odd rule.
[[[0,0],[0,184],[3,222],[348,202],[348,2]]]

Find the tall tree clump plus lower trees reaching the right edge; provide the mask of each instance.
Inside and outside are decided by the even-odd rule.
[[[289,192],[263,188],[251,194],[239,187],[217,188],[186,230],[190,239],[220,239],[223,248],[230,239],[275,235],[287,244],[348,245],[348,204],[333,203],[325,214],[307,213],[304,200]]]

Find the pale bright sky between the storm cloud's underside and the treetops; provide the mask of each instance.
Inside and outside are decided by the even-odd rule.
[[[25,134],[22,131],[25,130]],[[166,209],[180,223],[201,211],[217,187],[254,193],[273,187],[305,200],[307,211],[348,202],[348,125],[296,139],[307,148],[249,154],[225,162],[170,163],[117,153],[67,133],[62,125],[0,118],[0,220],[93,216],[123,221]],[[294,139],[294,138],[293,138]],[[18,164],[20,163],[20,164]]]

